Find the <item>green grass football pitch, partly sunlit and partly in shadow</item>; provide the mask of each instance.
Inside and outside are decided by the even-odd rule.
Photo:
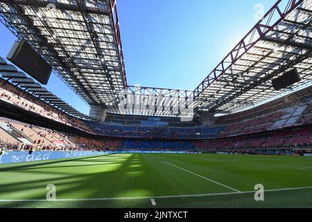
[[[55,201],[46,200],[49,184]],[[257,184],[264,201],[254,200]],[[312,157],[114,154],[3,164],[0,207],[312,207]]]

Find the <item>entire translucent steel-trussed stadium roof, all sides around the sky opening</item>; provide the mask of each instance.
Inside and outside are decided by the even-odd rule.
[[[115,0],[0,0],[0,21],[90,105],[183,117],[238,112],[311,82],[311,10],[312,0],[278,0],[193,92],[127,85]],[[300,82],[275,91],[272,78],[294,67]]]

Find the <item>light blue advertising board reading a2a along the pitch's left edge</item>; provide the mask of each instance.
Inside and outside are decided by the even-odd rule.
[[[6,152],[5,155],[0,155],[0,164],[55,160],[61,158],[85,157],[101,154],[108,153],[98,151],[34,151],[32,154],[28,154],[28,151],[12,151]]]

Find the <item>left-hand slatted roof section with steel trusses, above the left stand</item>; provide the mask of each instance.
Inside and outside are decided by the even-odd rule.
[[[115,1],[1,0],[0,14],[84,101],[118,103],[127,83]]]

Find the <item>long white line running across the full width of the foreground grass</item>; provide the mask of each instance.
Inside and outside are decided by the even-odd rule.
[[[312,189],[311,187],[293,187],[283,189],[265,189],[265,192],[274,191],[291,191],[297,189]],[[239,195],[239,194],[254,194],[253,191],[241,191],[241,192],[229,192],[229,193],[216,193],[216,194],[190,194],[190,195],[175,195],[175,196],[142,196],[142,197],[121,197],[121,198],[77,198],[77,199],[56,199],[56,200],[45,200],[45,199],[25,199],[25,200],[0,200],[1,202],[74,202],[74,201],[93,201],[93,200],[146,200],[146,199],[168,199],[168,198],[192,198],[192,197],[204,197],[204,196],[225,196],[225,195]]]

